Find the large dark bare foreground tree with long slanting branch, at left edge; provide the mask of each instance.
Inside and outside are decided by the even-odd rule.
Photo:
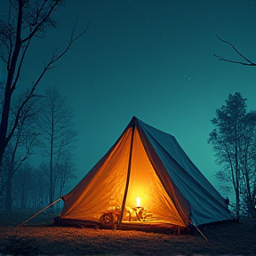
[[[44,74],[56,68],[57,61],[63,57],[71,45],[86,32],[89,24],[84,31],[75,36],[77,22],[71,32],[68,45],[62,52],[52,53],[52,58],[44,63],[44,68],[38,74],[28,97],[20,104],[17,112],[15,122],[10,127],[9,115],[12,102],[12,95],[17,88],[22,67],[25,65],[25,59],[28,55],[28,49],[32,39],[42,38],[45,36],[48,28],[57,28],[57,22],[53,19],[53,12],[59,11],[62,4],[60,0],[10,0],[9,13],[5,20],[0,20],[0,56],[4,61],[7,69],[7,77],[4,86],[4,104],[1,112],[0,123],[0,181],[2,174],[4,150],[15,132],[19,124],[19,116],[22,108],[26,105],[28,100],[32,97],[36,90],[36,86],[41,82]],[[1,182],[0,182],[1,183]]]

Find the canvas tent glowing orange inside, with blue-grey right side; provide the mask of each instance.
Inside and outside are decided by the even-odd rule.
[[[62,196],[59,222],[188,227],[231,220],[228,205],[175,138],[132,117],[116,143]]]

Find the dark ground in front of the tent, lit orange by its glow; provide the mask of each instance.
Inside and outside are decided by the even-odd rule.
[[[204,228],[204,236],[177,236],[141,231],[63,228],[41,213],[0,212],[2,255],[256,255],[256,220],[221,223]]]

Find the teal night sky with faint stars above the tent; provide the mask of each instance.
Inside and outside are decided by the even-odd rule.
[[[74,109],[78,180],[137,116],[171,133],[216,185],[220,167],[207,144],[211,119],[229,93],[241,92],[248,110],[256,109],[256,69],[212,54],[242,60],[220,36],[256,61],[256,1],[67,0],[57,17],[58,30],[33,42],[18,90],[36,80],[42,60],[67,44],[76,19],[77,33],[91,21],[37,90],[57,86]]]

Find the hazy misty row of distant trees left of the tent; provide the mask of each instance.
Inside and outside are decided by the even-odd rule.
[[[14,113],[19,102],[20,97]],[[49,87],[44,96],[32,97],[22,109],[4,152],[0,196],[1,208],[8,212],[13,207],[37,209],[52,203],[63,196],[68,180],[76,179],[73,150],[77,134],[66,99]]]

